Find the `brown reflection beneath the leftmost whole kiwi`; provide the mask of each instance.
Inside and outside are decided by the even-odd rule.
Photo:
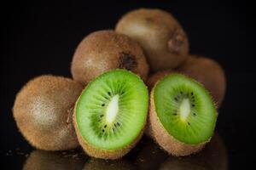
[[[63,155],[60,152],[34,150],[26,159],[23,170],[80,170],[83,157],[78,154]]]

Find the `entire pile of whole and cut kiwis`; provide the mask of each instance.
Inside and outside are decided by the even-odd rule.
[[[90,33],[73,54],[71,72],[73,79],[36,77],[16,96],[15,122],[40,150],[81,145],[89,156],[118,159],[145,133],[169,154],[188,156],[212,138],[224,71],[189,54],[172,14],[137,9],[115,31]]]

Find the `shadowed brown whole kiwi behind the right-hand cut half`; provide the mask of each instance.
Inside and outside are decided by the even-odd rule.
[[[212,94],[217,107],[221,105],[224,99],[226,80],[224,70],[216,61],[198,55],[190,55],[177,71],[201,82]]]

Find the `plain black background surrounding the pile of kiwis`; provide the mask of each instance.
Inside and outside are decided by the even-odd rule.
[[[253,157],[256,113],[254,28],[246,2],[22,1],[1,5],[1,166],[20,169],[25,157],[7,156],[9,150],[32,150],[12,117],[20,88],[42,74],[71,77],[73,52],[81,39],[91,31],[113,29],[122,14],[141,7],[171,12],[189,35],[191,54],[204,54],[224,67],[227,92],[219,110],[218,133],[229,151],[230,169],[248,163]]]

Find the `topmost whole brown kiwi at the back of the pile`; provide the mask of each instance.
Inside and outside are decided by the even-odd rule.
[[[166,11],[149,8],[131,11],[119,20],[115,31],[140,43],[153,72],[176,68],[188,57],[188,37]]]

